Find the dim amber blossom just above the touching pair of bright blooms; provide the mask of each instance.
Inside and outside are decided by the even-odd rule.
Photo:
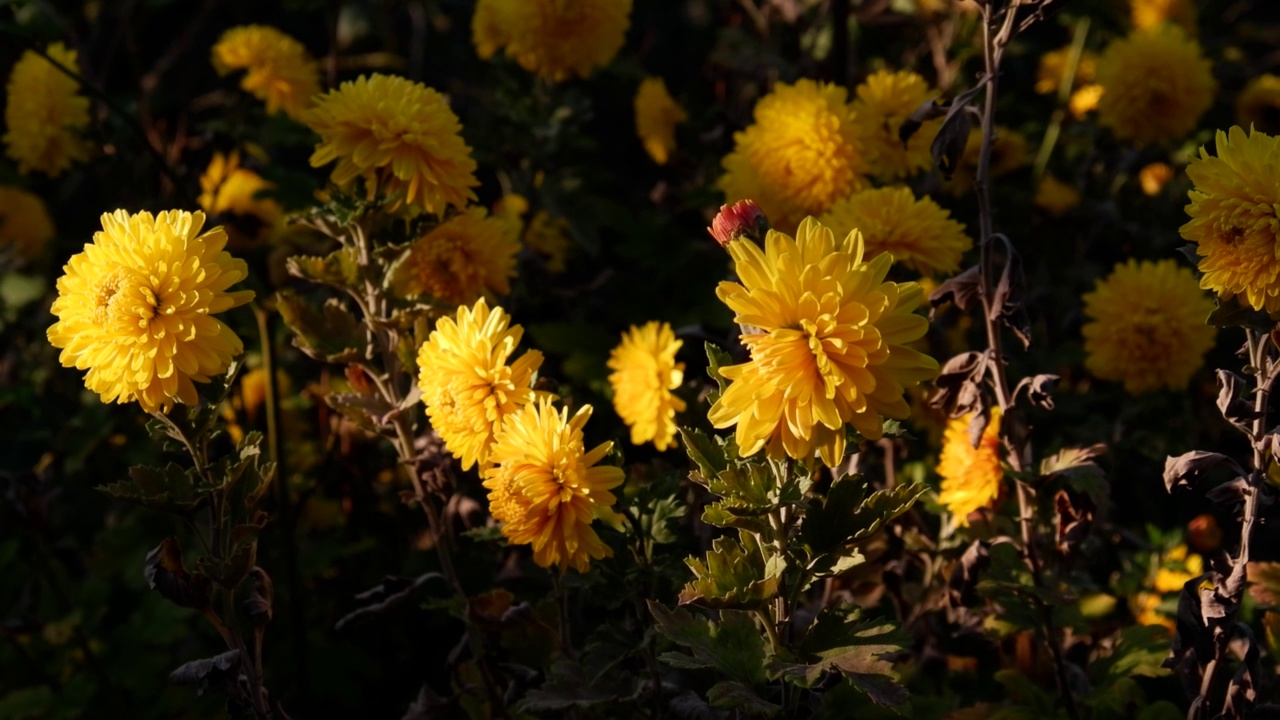
[[[511,292],[520,242],[484,208],[470,208],[410,245],[392,275],[402,297],[430,295],[451,305]]]

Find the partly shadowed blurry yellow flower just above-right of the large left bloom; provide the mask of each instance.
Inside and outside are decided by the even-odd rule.
[[[260,192],[275,184],[239,165],[239,152],[214,152],[205,174],[200,177],[200,206],[227,224],[233,246],[252,245],[284,227],[284,208]]]

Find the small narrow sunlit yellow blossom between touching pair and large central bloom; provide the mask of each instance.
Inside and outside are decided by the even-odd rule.
[[[685,401],[671,391],[685,379],[685,364],[676,363],[684,341],[667,323],[645,323],[622,333],[622,345],[609,354],[613,407],[631,428],[631,443],[653,441],[658,450],[675,445],[676,413]]]

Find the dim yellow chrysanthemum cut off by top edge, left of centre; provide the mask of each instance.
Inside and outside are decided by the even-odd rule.
[[[472,22],[486,26],[475,36],[480,56],[506,45],[522,68],[552,82],[608,65],[631,24],[631,0],[489,1],[476,6],[481,12]]]

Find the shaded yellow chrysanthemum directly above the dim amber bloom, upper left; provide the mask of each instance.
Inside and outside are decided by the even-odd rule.
[[[349,187],[360,177],[370,200],[383,191],[443,214],[475,200],[476,161],[462,123],[444,96],[422,83],[384,74],[360,76],[316,99],[306,122],[320,145],[311,167],[338,161],[330,179]]]

